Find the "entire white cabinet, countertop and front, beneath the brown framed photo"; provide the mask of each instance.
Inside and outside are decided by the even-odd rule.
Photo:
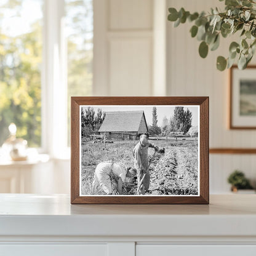
[[[65,195],[0,194],[0,255],[255,256],[256,194],[210,205],[71,205]]]

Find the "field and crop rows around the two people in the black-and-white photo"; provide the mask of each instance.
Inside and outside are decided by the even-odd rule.
[[[165,154],[157,153],[150,166],[150,189],[147,194],[177,195],[198,194],[198,141],[154,141]],[[81,192],[92,194],[94,171],[102,161],[122,162],[127,167],[134,166],[132,150],[134,142],[114,142],[113,144],[86,143],[82,145]],[[150,156],[154,153],[149,148]],[[124,183],[123,194],[136,194],[137,177]]]

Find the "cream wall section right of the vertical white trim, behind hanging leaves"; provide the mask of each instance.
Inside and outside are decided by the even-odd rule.
[[[223,6],[223,2],[168,0],[167,6],[200,12]],[[228,71],[220,72],[215,67],[218,55],[228,57],[228,46],[234,36],[233,39],[222,38],[220,48],[202,59],[198,54],[199,41],[190,36],[191,23],[178,28],[167,23],[167,95],[210,97],[210,148],[255,148],[255,130],[228,129]],[[210,154],[210,193],[229,191],[226,178],[234,169],[243,170],[255,182],[255,155]]]

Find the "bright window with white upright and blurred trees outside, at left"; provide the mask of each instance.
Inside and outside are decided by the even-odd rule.
[[[0,146],[10,122],[52,156],[70,144],[70,97],[92,94],[93,29],[93,0],[1,1]]]

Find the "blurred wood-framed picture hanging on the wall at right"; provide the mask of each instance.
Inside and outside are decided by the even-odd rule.
[[[230,69],[230,129],[256,129],[256,66]]]

